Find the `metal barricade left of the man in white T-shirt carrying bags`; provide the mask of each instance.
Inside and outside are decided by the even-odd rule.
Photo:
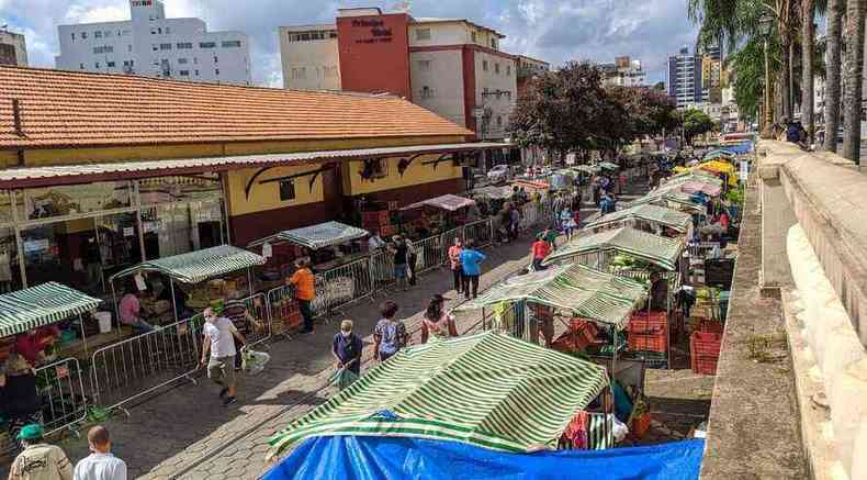
[[[91,388],[98,404],[124,404],[181,379],[193,383],[202,341],[201,314],[93,353]]]

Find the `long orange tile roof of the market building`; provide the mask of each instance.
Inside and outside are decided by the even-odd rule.
[[[472,132],[395,97],[0,67],[4,149],[435,135]]]

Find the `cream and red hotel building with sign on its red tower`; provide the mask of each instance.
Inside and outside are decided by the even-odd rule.
[[[279,31],[285,88],[397,94],[480,138],[507,135],[518,68],[493,29],[356,8],[333,24]]]

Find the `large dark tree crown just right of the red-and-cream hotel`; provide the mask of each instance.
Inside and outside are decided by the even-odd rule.
[[[624,143],[675,126],[675,104],[664,92],[601,83],[601,71],[586,62],[537,76],[510,119],[511,138],[521,147],[560,155],[616,152]]]

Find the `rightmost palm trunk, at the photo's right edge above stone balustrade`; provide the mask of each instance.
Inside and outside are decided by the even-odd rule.
[[[864,71],[864,0],[846,2],[846,70],[843,75],[843,157],[860,157],[862,77]]]

